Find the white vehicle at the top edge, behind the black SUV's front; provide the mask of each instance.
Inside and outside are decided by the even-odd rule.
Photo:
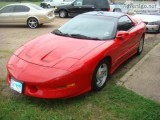
[[[60,5],[67,5],[73,1],[74,0],[43,0],[43,2],[40,3],[40,6],[43,8],[50,8]]]

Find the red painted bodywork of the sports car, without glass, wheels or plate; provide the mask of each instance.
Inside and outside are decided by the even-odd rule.
[[[109,57],[110,74],[137,52],[145,33],[135,23],[128,33],[117,32],[114,40],[82,40],[46,34],[19,48],[10,58],[7,81],[24,82],[24,94],[39,98],[68,98],[91,90],[96,65]],[[123,38],[121,38],[121,36]]]

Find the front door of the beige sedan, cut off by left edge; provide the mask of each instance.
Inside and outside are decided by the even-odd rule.
[[[13,22],[13,10],[14,6],[6,6],[0,10],[0,23],[12,23]]]

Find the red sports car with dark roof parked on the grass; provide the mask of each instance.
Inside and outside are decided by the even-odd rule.
[[[146,27],[123,13],[89,12],[24,44],[7,64],[7,82],[19,93],[69,98],[101,90],[108,75],[143,50]]]

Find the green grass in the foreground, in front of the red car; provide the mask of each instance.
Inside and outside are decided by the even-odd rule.
[[[98,93],[72,99],[0,98],[1,120],[159,120],[160,105],[114,81]]]

